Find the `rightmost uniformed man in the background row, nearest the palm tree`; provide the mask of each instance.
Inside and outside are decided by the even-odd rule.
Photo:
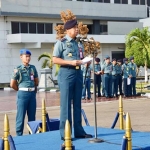
[[[137,72],[137,66],[134,63],[134,57],[130,57],[130,70],[131,70],[131,85],[130,85],[130,95],[136,96],[136,72]]]

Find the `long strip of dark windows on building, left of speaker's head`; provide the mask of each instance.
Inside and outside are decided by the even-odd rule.
[[[12,34],[52,34],[52,23],[11,22]]]

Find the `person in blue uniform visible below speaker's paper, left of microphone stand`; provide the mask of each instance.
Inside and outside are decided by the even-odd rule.
[[[82,66],[83,71],[83,90],[82,90],[82,100],[86,100],[86,90],[87,90],[87,99],[91,100],[91,61]]]

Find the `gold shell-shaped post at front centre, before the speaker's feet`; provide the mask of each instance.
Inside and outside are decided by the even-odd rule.
[[[68,120],[66,120],[65,125],[65,150],[72,150],[71,129]]]

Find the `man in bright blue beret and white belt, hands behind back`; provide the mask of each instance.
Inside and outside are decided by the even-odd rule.
[[[28,121],[35,121],[36,89],[39,83],[35,66],[30,65],[31,52],[20,50],[22,64],[17,66],[12,74],[10,86],[17,91],[16,134],[21,136],[24,129],[24,119],[27,112]]]

